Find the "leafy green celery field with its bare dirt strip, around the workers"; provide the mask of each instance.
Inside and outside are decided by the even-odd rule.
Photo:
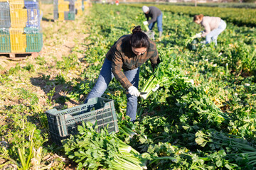
[[[114,100],[119,132],[87,124],[63,147],[51,142],[45,112],[82,104],[107,51],[144,16],[137,6],[94,4],[74,22],[50,22],[45,8],[42,55],[13,67],[0,61],[0,169],[255,169],[255,28],[230,19],[218,47],[191,50],[188,40],[203,28],[188,11],[164,8],[156,45],[168,83],[139,98],[133,124],[113,79],[102,97]],[[139,89],[151,74],[150,62],[143,64]]]

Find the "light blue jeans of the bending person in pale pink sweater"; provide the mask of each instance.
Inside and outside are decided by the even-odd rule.
[[[215,45],[217,45],[218,35],[220,35],[220,33],[222,33],[223,30],[225,30],[226,26],[227,26],[227,24],[225,23],[225,21],[220,20],[220,25],[218,26],[218,28],[210,31],[210,33],[208,33],[208,35],[206,35],[206,44],[213,41],[215,43]]]

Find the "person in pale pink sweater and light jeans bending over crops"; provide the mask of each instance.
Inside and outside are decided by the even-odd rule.
[[[197,24],[201,24],[205,30],[203,33],[198,33],[197,38],[206,37],[206,44],[214,42],[217,46],[217,38],[220,33],[225,30],[227,24],[220,17],[203,16],[203,14],[196,15],[193,21]]]

